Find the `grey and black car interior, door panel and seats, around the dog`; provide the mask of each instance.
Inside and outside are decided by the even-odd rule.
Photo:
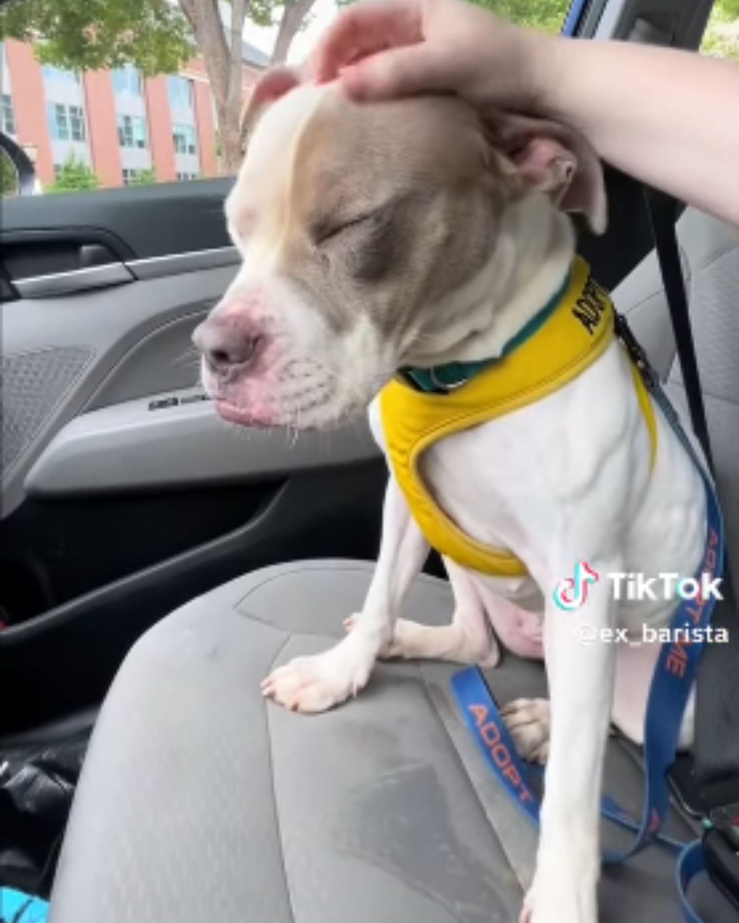
[[[697,48],[711,6],[600,0],[570,20]],[[387,474],[364,421],[236,432],[205,399],[190,336],[238,265],[231,182],[3,202],[0,888],[50,897],[51,923],[515,920],[536,831],[467,734],[454,665],[383,663],[315,717],[262,700],[273,665],[361,608]],[[609,230],[579,250],[688,419],[644,190],[607,183]],[[687,208],[677,234],[739,573],[739,230]],[[431,556],[407,617],[451,613]],[[510,653],[485,675],[501,702],[546,694]],[[6,767],[26,773],[13,797]],[[50,811],[41,774],[65,795]],[[641,752],[616,734],[604,787],[638,816]],[[699,830],[676,792],[667,832]],[[604,821],[606,846],[625,836]],[[707,880],[691,898],[739,918]],[[604,870],[603,921],[680,912],[659,845]]]

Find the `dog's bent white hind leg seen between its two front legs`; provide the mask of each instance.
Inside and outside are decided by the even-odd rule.
[[[454,590],[452,624],[421,625],[399,618],[393,638],[382,648],[380,656],[495,666],[501,652],[475,578],[447,558],[444,564]],[[346,619],[347,631],[355,630],[356,626],[356,616]]]

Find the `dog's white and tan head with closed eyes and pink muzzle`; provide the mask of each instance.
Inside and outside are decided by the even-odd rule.
[[[399,366],[454,351],[470,330],[451,306],[484,295],[527,198],[603,229],[598,160],[561,127],[483,124],[451,97],[357,104],[284,71],[256,110],[226,202],[243,264],[195,333],[225,419],[333,426]]]

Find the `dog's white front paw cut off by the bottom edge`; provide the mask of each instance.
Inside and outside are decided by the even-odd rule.
[[[518,923],[598,923],[597,872],[539,866]]]

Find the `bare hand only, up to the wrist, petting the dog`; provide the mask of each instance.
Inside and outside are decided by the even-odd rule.
[[[454,92],[476,106],[537,112],[557,40],[462,0],[369,0],[347,8],[313,54],[320,81],[355,99]]]

